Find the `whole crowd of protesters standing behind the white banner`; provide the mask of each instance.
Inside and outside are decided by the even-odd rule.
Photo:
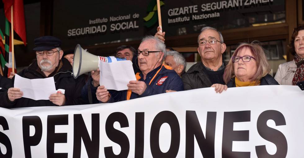
[[[141,40],[138,49],[126,45],[117,48],[116,57],[132,61],[136,80],[127,84],[128,90],[115,91],[99,85],[99,69],[92,71],[89,79],[85,75],[74,79],[73,55],[64,56],[61,40],[53,36],[37,38],[34,40],[36,60],[18,75],[28,79],[54,77],[56,89],[64,89],[65,93],[52,94],[49,100],[24,98],[23,92],[13,86],[15,77],[9,79],[0,75],[0,107],[114,103],[206,87],[215,87],[216,93],[221,93],[230,87],[241,86],[304,86],[304,26],[294,29],[289,43],[293,61],[280,64],[275,77],[269,74],[270,66],[258,41],[239,44],[230,61],[225,63],[222,54],[226,44],[221,32],[203,27],[197,48],[201,61],[187,72],[186,59],[172,48],[166,48],[164,41],[165,32],[159,32],[158,27],[154,36]]]

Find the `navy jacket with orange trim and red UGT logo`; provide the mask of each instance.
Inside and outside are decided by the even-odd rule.
[[[169,66],[161,65],[155,68],[147,74],[145,80],[142,73],[136,74],[136,78],[139,77],[140,79],[138,79],[138,81],[144,81],[147,84],[147,88],[142,95],[132,92],[130,99],[166,93],[166,90],[184,91],[184,85],[181,77],[179,77],[177,73]],[[108,102],[110,103],[127,100],[127,90],[109,90],[109,92],[111,97]]]

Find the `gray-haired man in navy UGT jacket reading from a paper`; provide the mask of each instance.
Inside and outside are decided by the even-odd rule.
[[[135,51],[141,73],[136,74],[136,81],[130,81],[128,90],[108,91],[99,86],[96,97],[101,102],[117,102],[139,97],[165,93],[166,90],[183,91],[183,82],[171,67],[163,65],[166,45],[154,36],[146,36]]]

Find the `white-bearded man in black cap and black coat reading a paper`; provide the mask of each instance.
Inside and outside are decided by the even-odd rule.
[[[3,99],[6,108],[19,108],[31,106],[61,106],[83,104],[81,89],[85,84],[85,78],[73,77],[72,66],[69,61],[62,58],[61,40],[53,36],[42,36],[34,40],[37,61],[34,61],[27,69],[18,73],[19,76],[28,79],[54,77],[56,90],[65,92],[51,94],[50,100],[32,100],[22,98],[23,92],[19,88],[9,88]],[[15,78],[13,78],[14,81]],[[64,94],[62,94],[64,93]]]

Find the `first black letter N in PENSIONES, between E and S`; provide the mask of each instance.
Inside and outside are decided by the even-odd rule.
[[[81,138],[87,150],[88,158],[99,157],[99,114],[92,114],[92,140],[87,132],[81,114],[74,114],[74,148],[73,158],[80,158]]]

